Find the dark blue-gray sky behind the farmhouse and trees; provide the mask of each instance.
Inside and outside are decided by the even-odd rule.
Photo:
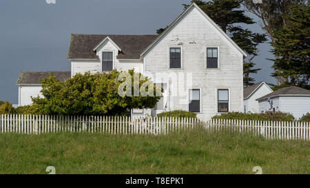
[[[71,33],[155,34],[183,12],[189,0],[1,0],[0,101],[18,103],[20,71],[70,71],[67,60]],[[257,24],[255,32],[262,32]],[[256,81],[270,76],[269,44],[260,45]]]

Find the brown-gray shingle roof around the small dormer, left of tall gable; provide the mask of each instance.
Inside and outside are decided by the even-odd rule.
[[[158,35],[71,34],[68,59],[97,59],[93,49],[107,36],[122,50],[117,59],[140,59]]]

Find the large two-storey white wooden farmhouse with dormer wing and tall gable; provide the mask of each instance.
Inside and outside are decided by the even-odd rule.
[[[160,35],[72,34],[68,51],[71,76],[134,68],[163,88],[154,109],[134,109],[133,115],[183,109],[202,120],[243,112],[245,56],[195,3]],[[18,84],[19,105],[26,105],[32,86]],[[27,91],[23,85],[28,85]]]

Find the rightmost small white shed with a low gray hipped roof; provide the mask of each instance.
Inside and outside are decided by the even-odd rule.
[[[296,120],[310,112],[310,91],[291,86],[257,99],[260,112],[287,112]]]

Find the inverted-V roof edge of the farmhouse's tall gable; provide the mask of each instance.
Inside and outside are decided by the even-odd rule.
[[[196,3],[192,3],[191,6],[189,6],[182,14],[180,14],[180,16],[153,41],[153,43],[151,43],[149,46],[147,46],[145,50],[143,50],[141,56],[145,55],[145,53],[150,48],[152,48],[152,46],[155,45],[156,42],[159,41],[167,32],[169,32],[169,30],[171,30],[173,26],[176,25],[176,23],[178,23],[178,20],[182,19],[183,16],[192,8],[197,8],[199,12],[203,14],[203,16],[205,16],[205,18],[211,23],[211,25],[213,25],[216,28],[216,30],[218,30],[220,34],[222,34],[225,37],[225,39],[227,39],[231,43],[231,45],[233,45],[241,54],[243,54],[243,56],[245,57],[247,56],[247,54],[207,14],[205,14],[205,12],[201,10],[201,8],[196,5]]]

